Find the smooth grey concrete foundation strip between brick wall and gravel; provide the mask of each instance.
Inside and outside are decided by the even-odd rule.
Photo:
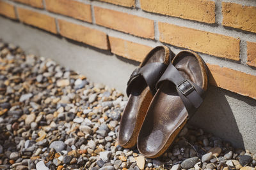
[[[49,57],[61,66],[83,73],[125,93],[126,83],[138,62],[92,46],[59,38],[28,25],[0,17],[0,38],[27,53]],[[204,104],[190,124],[256,153],[256,100],[228,90],[209,87]]]

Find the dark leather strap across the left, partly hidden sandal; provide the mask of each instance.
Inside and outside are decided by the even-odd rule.
[[[163,62],[152,62],[146,64],[143,67],[138,67],[134,69],[134,71],[131,74],[131,77],[129,78],[129,81],[127,82],[127,96],[131,94],[133,82],[141,78],[143,78],[146,81],[150,89],[150,92],[154,95],[156,93],[156,82],[164,73],[166,67],[167,65]]]

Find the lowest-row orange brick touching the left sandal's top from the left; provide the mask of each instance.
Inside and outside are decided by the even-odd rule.
[[[120,38],[109,37],[111,52],[127,59],[141,62],[152,47],[126,41]]]

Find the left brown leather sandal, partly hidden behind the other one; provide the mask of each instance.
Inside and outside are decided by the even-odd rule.
[[[124,148],[136,145],[138,132],[156,93],[156,83],[169,64],[172,51],[166,46],[157,46],[151,50],[135,69],[127,83],[127,105],[121,118],[118,132],[118,144]]]

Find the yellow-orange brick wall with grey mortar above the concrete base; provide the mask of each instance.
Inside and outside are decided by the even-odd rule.
[[[254,0],[0,0],[0,15],[138,62],[189,48],[211,85],[256,99]]]

